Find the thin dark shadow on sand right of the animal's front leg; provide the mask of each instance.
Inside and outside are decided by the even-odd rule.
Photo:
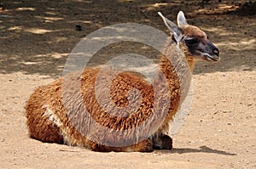
[[[177,154],[185,154],[185,153],[212,153],[218,155],[236,155],[234,153],[229,153],[224,150],[211,149],[206,145],[201,146],[199,149],[190,149],[190,148],[172,148],[172,150],[164,150],[162,153],[177,153]]]

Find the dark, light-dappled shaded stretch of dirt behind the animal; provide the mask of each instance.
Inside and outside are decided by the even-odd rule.
[[[251,22],[256,18],[255,1],[2,0],[0,6],[0,73],[20,71],[61,76],[68,54],[90,32],[126,22],[166,31],[157,12],[175,21],[179,10],[184,11],[190,24],[206,30],[220,49],[220,63],[200,63],[195,74],[241,67],[251,70],[256,65],[255,41],[252,40],[256,37],[256,26],[255,21]],[[233,22],[233,18],[240,18],[240,21]],[[242,48],[241,41],[250,47]],[[109,50],[111,48],[102,57],[111,54]],[[238,50],[240,55],[236,54]]]

